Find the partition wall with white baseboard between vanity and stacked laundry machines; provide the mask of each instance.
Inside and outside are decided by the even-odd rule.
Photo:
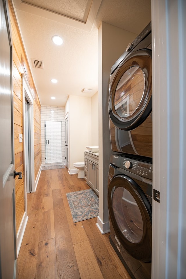
[[[102,233],[109,231],[107,189],[108,168],[111,154],[108,90],[112,65],[124,53],[136,34],[102,22],[98,30],[98,94],[99,94],[99,216],[97,226]]]

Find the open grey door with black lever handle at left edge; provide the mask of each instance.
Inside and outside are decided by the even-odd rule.
[[[12,46],[8,3],[0,0],[0,278],[16,277]]]

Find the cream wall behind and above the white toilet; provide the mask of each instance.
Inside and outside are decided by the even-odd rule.
[[[68,108],[67,108],[68,106]],[[84,150],[91,145],[91,98],[70,95],[65,105],[69,112],[69,173],[77,173],[74,162],[84,161]]]

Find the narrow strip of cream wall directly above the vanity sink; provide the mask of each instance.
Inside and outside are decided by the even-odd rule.
[[[96,92],[91,98],[91,130],[92,139],[91,146],[98,146],[98,92]]]

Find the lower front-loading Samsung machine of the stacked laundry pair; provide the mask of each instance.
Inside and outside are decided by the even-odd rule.
[[[133,279],[151,278],[152,164],[113,154],[108,177],[110,244]]]

